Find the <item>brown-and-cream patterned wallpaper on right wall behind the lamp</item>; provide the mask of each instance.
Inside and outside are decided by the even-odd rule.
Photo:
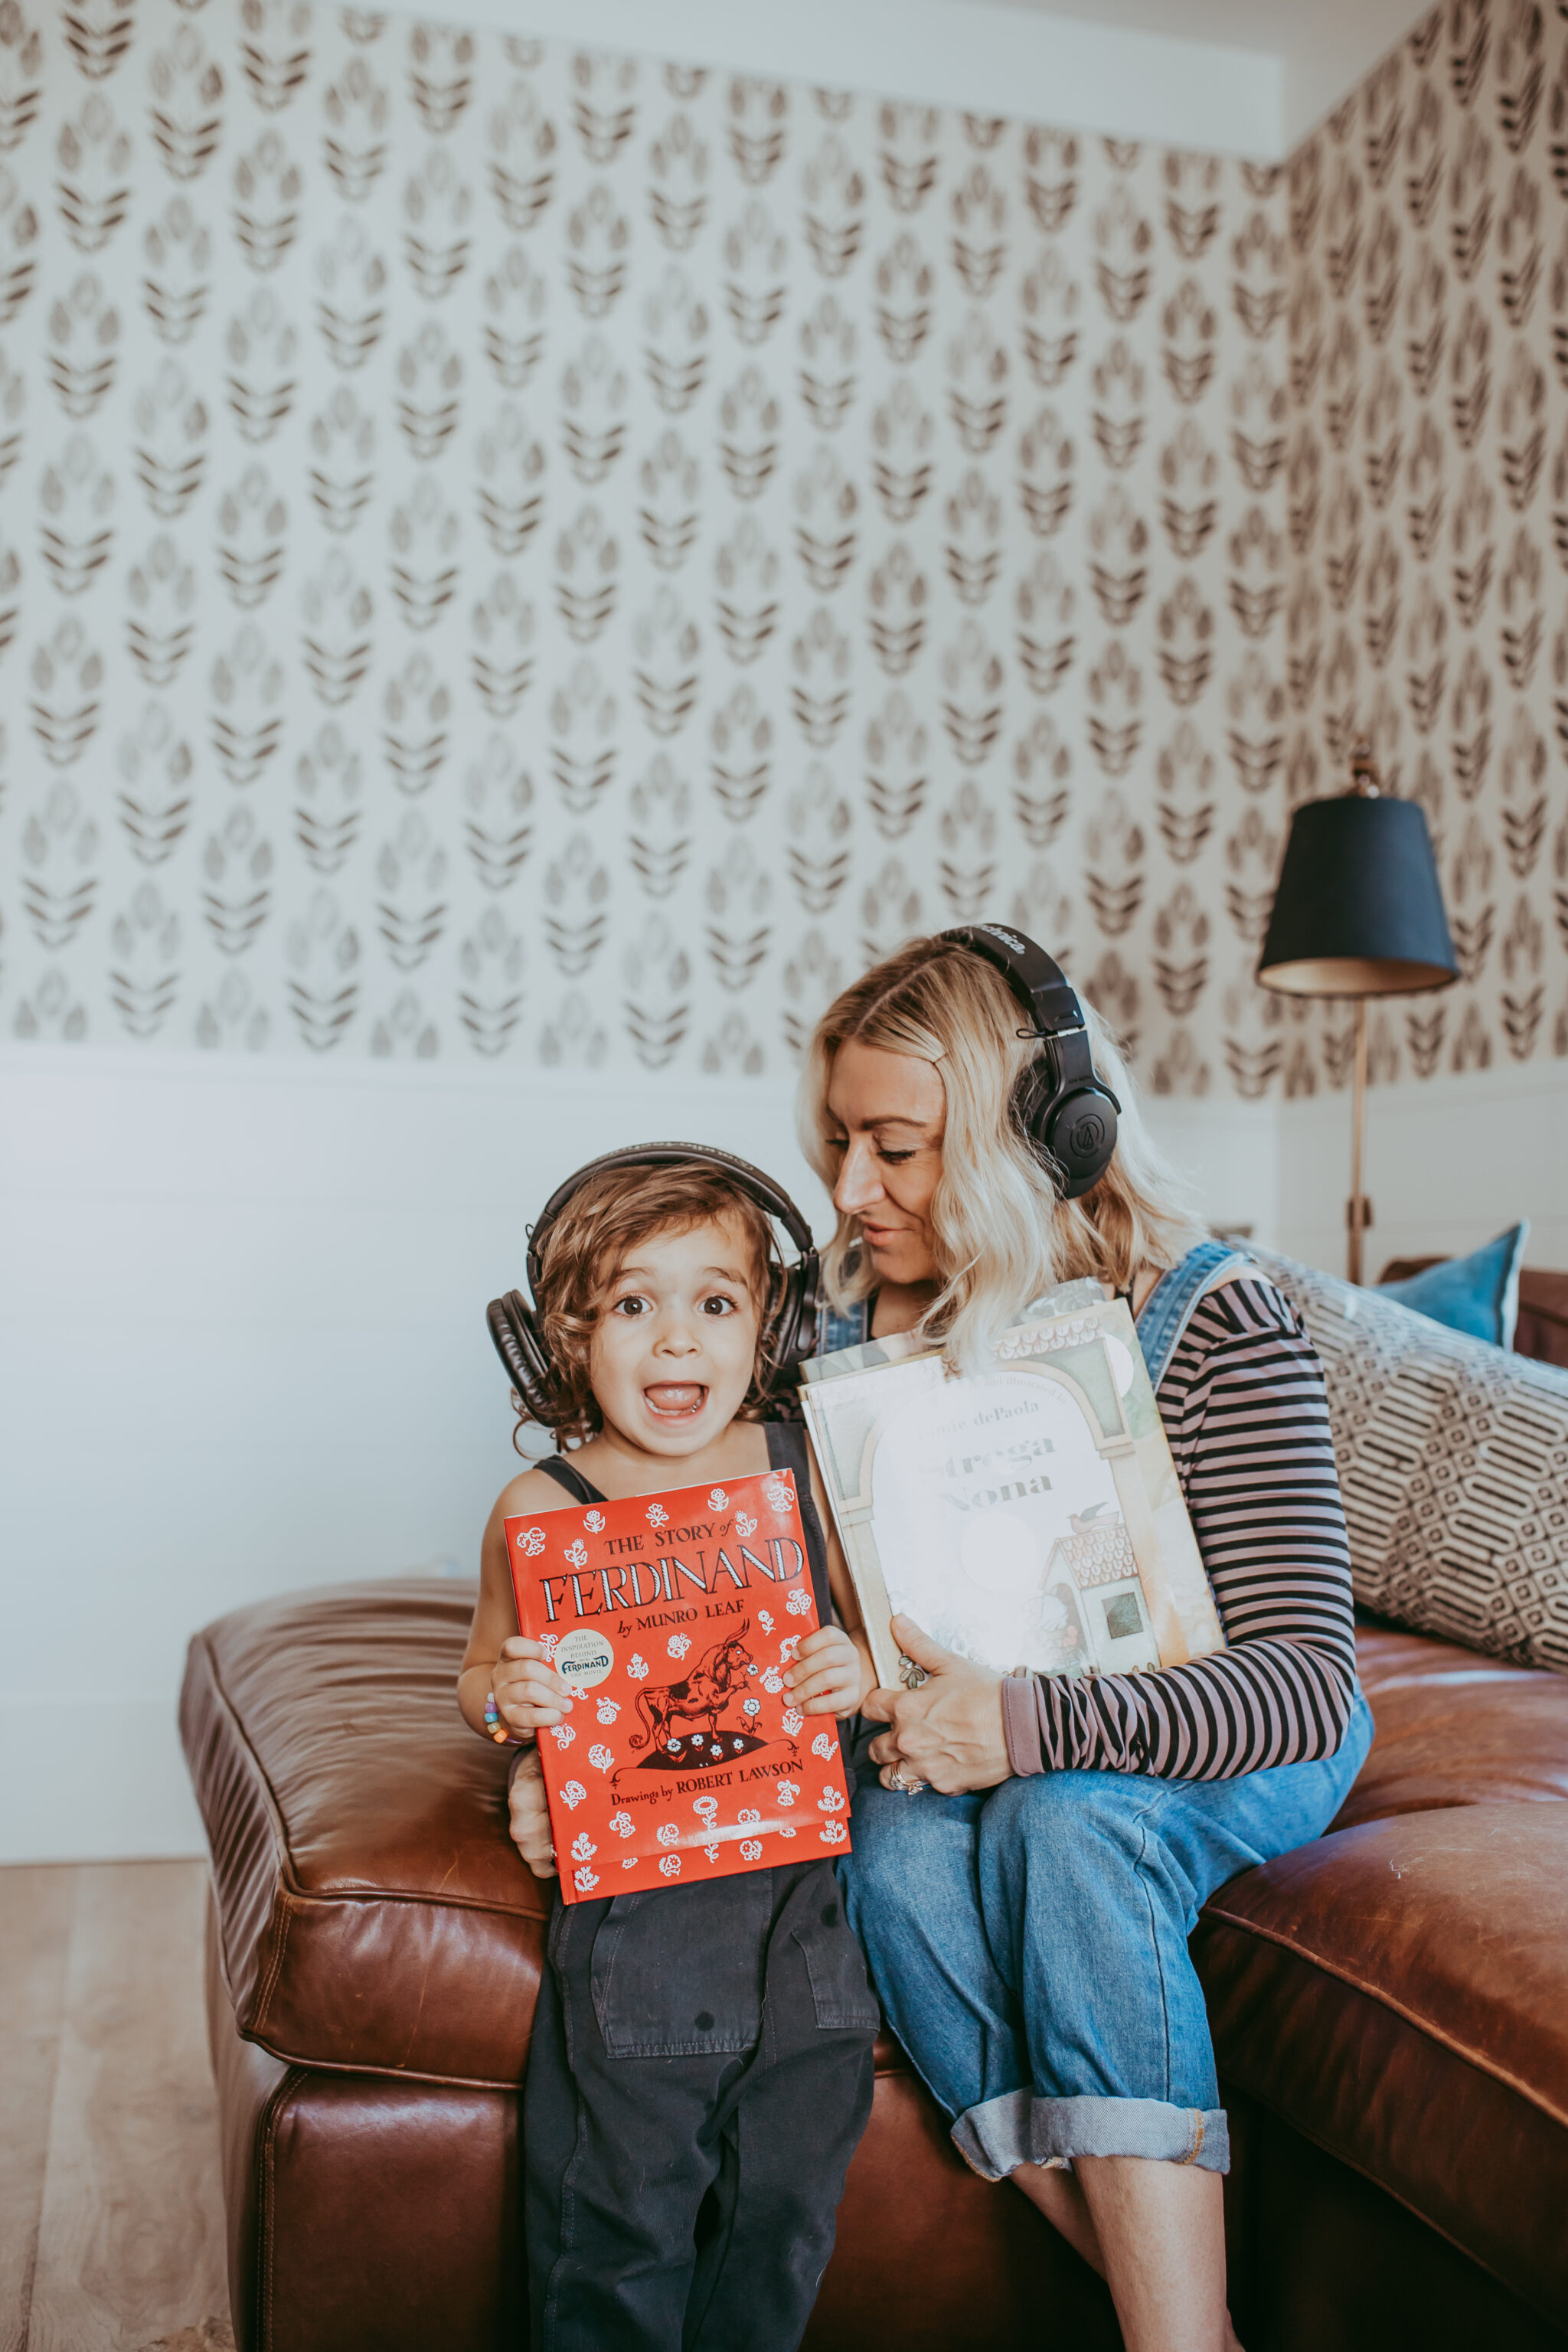
[[[1458,988],[1375,1077],[1568,1054],[1568,26],[1450,0],[1291,162],[1291,800],[1363,729],[1422,802]],[[1342,1082],[1307,1018],[1286,1094]]]

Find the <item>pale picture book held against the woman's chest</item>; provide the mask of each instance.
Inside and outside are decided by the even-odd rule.
[[[1225,1649],[1133,1317],[1100,1284],[1041,1301],[987,1371],[870,1341],[806,1364],[802,1397],[884,1686],[896,1613],[1004,1675]]]

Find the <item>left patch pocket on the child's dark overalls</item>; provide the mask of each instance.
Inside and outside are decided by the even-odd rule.
[[[592,1940],[611,2058],[748,2051],[762,2032],[771,1872],[616,1896]]]

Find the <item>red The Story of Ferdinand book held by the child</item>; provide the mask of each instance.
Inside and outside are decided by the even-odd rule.
[[[849,1851],[839,1726],[783,1682],[818,1623],[790,1470],[508,1519],[505,1557],[574,1693],[538,1733],[564,1903]]]

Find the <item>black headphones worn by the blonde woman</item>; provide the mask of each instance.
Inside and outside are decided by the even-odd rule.
[[[1041,1051],[1018,1080],[1013,1110],[1060,1197],[1081,1200],[1112,1162],[1121,1103],[1095,1077],[1072,983],[1044,948],[999,922],[971,922],[936,936],[983,955],[1027,1011],[1030,1028],[1018,1035],[1039,1037]]]

